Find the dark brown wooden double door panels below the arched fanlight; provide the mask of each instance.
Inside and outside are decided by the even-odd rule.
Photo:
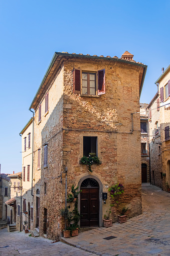
[[[80,219],[81,227],[94,227],[99,225],[99,189],[82,189],[80,193]]]

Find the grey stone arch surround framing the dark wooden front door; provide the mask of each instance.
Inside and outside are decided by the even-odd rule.
[[[102,220],[102,192],[103,192],[103,185],[101,183],[101,181],[99,180],[98,177],[96,177],[95,175],[91,175],[88,174],[84,177],[82,177],[79,182],[78,182],[78,187],[79,187],[79,191],[80,191],[80,187],[81,184],[84,180],[88,179],[88,178],[92,178],[94,180],[96,180],[99,184],[99,227],[102,227],[103,225],[103,220]],[[80,212],[80,194],[78,195],[78,210]]]

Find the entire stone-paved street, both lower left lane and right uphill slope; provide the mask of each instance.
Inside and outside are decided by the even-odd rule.
[[[0,230],[0,255],[170,255],[170,194],[149,184],[142,185],[142,214],[114,223],[110,228],[96,228],[62,242],[30,237],[23,232]],[[103,238],[115,236],[110,240]]]

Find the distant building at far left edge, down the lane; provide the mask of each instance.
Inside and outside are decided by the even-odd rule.
[[[10,178],[6,174],[0,174],[0,219],[10,220],[10,208],[6,201],[10,199]]]

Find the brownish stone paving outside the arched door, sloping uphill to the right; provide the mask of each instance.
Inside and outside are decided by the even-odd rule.
[[[110,228],[97,228],[63,238],[102,256],[170,256],[170,194],[142,184],[142,214]],[[103,238],[113,236],[110,240]],[[74,254],[73,254],[74,255]]]

